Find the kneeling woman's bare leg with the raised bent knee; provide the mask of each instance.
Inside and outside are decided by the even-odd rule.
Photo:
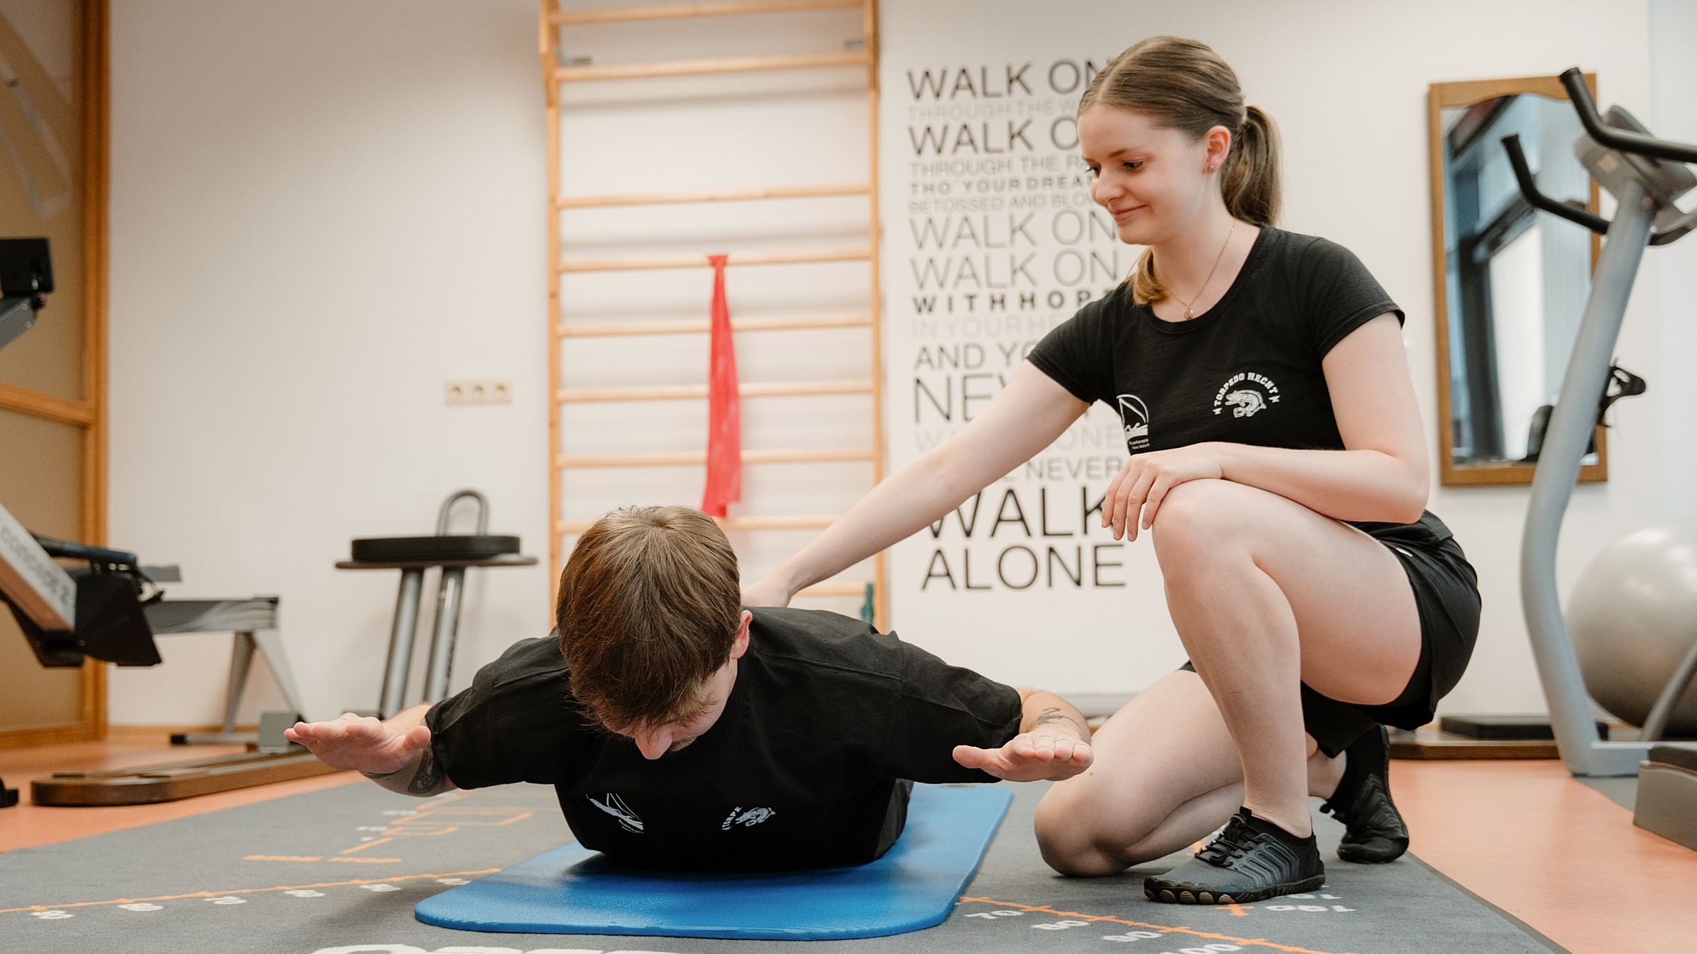
[[[1361,704],[1402,693],[1420,657],[1402,564],[1351,526],[1227,480],[1176,487],[1154,533],[1168,609],[1242,757],[1244,805],[1308,835],[1300,682]]]

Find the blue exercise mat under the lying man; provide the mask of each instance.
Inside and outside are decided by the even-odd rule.
[[[1013,793],[916,784],[908,827],[854,867],[701,874],[623,867],[570,844],[417,903],[424,923],[523,934],[833,940],[942,923]]]

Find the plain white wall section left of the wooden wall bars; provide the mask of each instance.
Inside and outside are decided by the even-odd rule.
[[[535,32],[528,0],[112,5],[110,540],[180,562],[173,596],[280,594],[311,715],[377,704],[397,574],[334,570],[350,538],[470,485],[546,558]],[[450,377],[516,401],[446,407]],[[472,574],[455,682],[548,599]],[[160,642],[112,721],[217,721],[229,637]]]

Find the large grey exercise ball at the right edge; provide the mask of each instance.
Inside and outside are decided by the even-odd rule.
[[[1597,553],[1573,586],[1568,631],[1592,699],[1643,725],[1697,642],[1697,525],[1646,526]],[[1697,737],[1697,687],[1663,735]]]

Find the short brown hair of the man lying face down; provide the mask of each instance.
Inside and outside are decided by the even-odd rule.
[[[609,728],[692,718],[740,621],[736,553],[697,509],[616,509],[560,572],[555,625],[572,694]]]

